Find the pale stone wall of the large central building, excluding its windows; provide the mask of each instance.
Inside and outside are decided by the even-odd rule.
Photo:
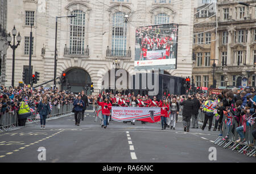
[[[16,29],[22,35],[21,45],[16,49],[15,60],[15,86],[18,81],[22,81],[23,65],[28,65],[28,55],[23,55],[24,36],[30,35],[30,27],[24,26],[25,10],[36,11],[36,25],[32,28],[34,36],[34,55],[32,56],[33,73],[40,72],[40,81],[53,79],[54,71],[54,48],[55,48],[55,16],[70,15],[72,10],[84,10],[86,13],[86,34],[85,47],[89,45],[89,58],[64,56],[64,47],[69,47],[69,19],[58,19],[57,32],[57,77],[63,71],[75,67],[83,68],[90,74],[93,82],[101,78],[99,70],[107,72],[112,68],[113,59],[106,59],[107,46],[111,48],[112,38],[112,12],[115,9],[125,11],[137,11],[131,16],[131,23],[128,23],[127,49],[131,47],[131,59],[121,60],[120,64],[123,69],[129,71],[134,66],[134,47],[135,47],[135,28],[139,26],[148,26],[154,24],[154,11],[166,11],[170,8],[170,23],[179,23],[179,43],[178,43],[178,60],[176,70],[167,70],[174,76],[191,76],[192,74],[192,32],[193,32],[193,8],[197,5],[195,0],[174,1],[171,4],[155,4],[154,0],[129,0],[128,3],[110,1],[70,1],[70,0],[44,0],[35,2],[10,0],[8,6],[8,30],[10,31],[15,24]],[[120,6],[121,5],[121,6]],[[160,8],[159,6],[162,6]],[[155,8],[159,7],[159,8]],[[43,9],[43,10],[42,10]],[[44,10],[45,9],[45,10]],[[182,25],[183,24],[183,25]],[[46,54],[41,55],[43,45],[46,47]],[[7,56],[7,85],[11,84],[11,64],[12,52],[9,49]],[[95,83],[96,84],[96,83]],[[53,82],[52,84],[53,85]],[[98,86],[94,85],[97,90]]]

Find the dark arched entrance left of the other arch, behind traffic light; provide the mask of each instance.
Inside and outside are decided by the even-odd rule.
[[[92,80],[88,72],[84,69],[74,68],[66,72],[67,84],[61,86],[63,90],[68,90],[67,86],[71,86],[70,91],[73,93],[79,93],[87,84],[91,84]],[[90,94],[90,87],[88,88],[87,94]]]

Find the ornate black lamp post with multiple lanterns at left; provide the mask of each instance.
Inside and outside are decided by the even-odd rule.
[[[13,45],[11,45],[11,34],[13,34]],[[22,40],[20,34],[18,34],[17,36],[17,42],[18,44],[15,45],[15,36],[17,34],[17,30],[15,28],[15,26],[13,27],[13,30],[11,30],[11,34],[9,33],[7,36],[7,42],[9,43],[9,46],[11,47],[11,49],[13,49],[13,74],[11,76],[11,86],[14,87],[14,68],[15,68],[15,49],[18,48],[18,45],[20,43],[20,41]]]

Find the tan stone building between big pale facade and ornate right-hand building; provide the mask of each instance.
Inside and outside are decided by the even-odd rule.
[[[216,62],[213,59],[217,32],[216,12],[210,10],[213,5],[206,3],[194,11],[192,81],[197,87],[208,88],[213,84],[213,64]]]

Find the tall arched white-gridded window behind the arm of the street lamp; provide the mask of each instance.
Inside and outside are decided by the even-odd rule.
[[[71,15],[76,15],[76,18],[71,18],[70,22],[70,40],[69,48],[71,54],[84,54],[84,39],[85,39],[85,13],[81,10],[74,10]]]

